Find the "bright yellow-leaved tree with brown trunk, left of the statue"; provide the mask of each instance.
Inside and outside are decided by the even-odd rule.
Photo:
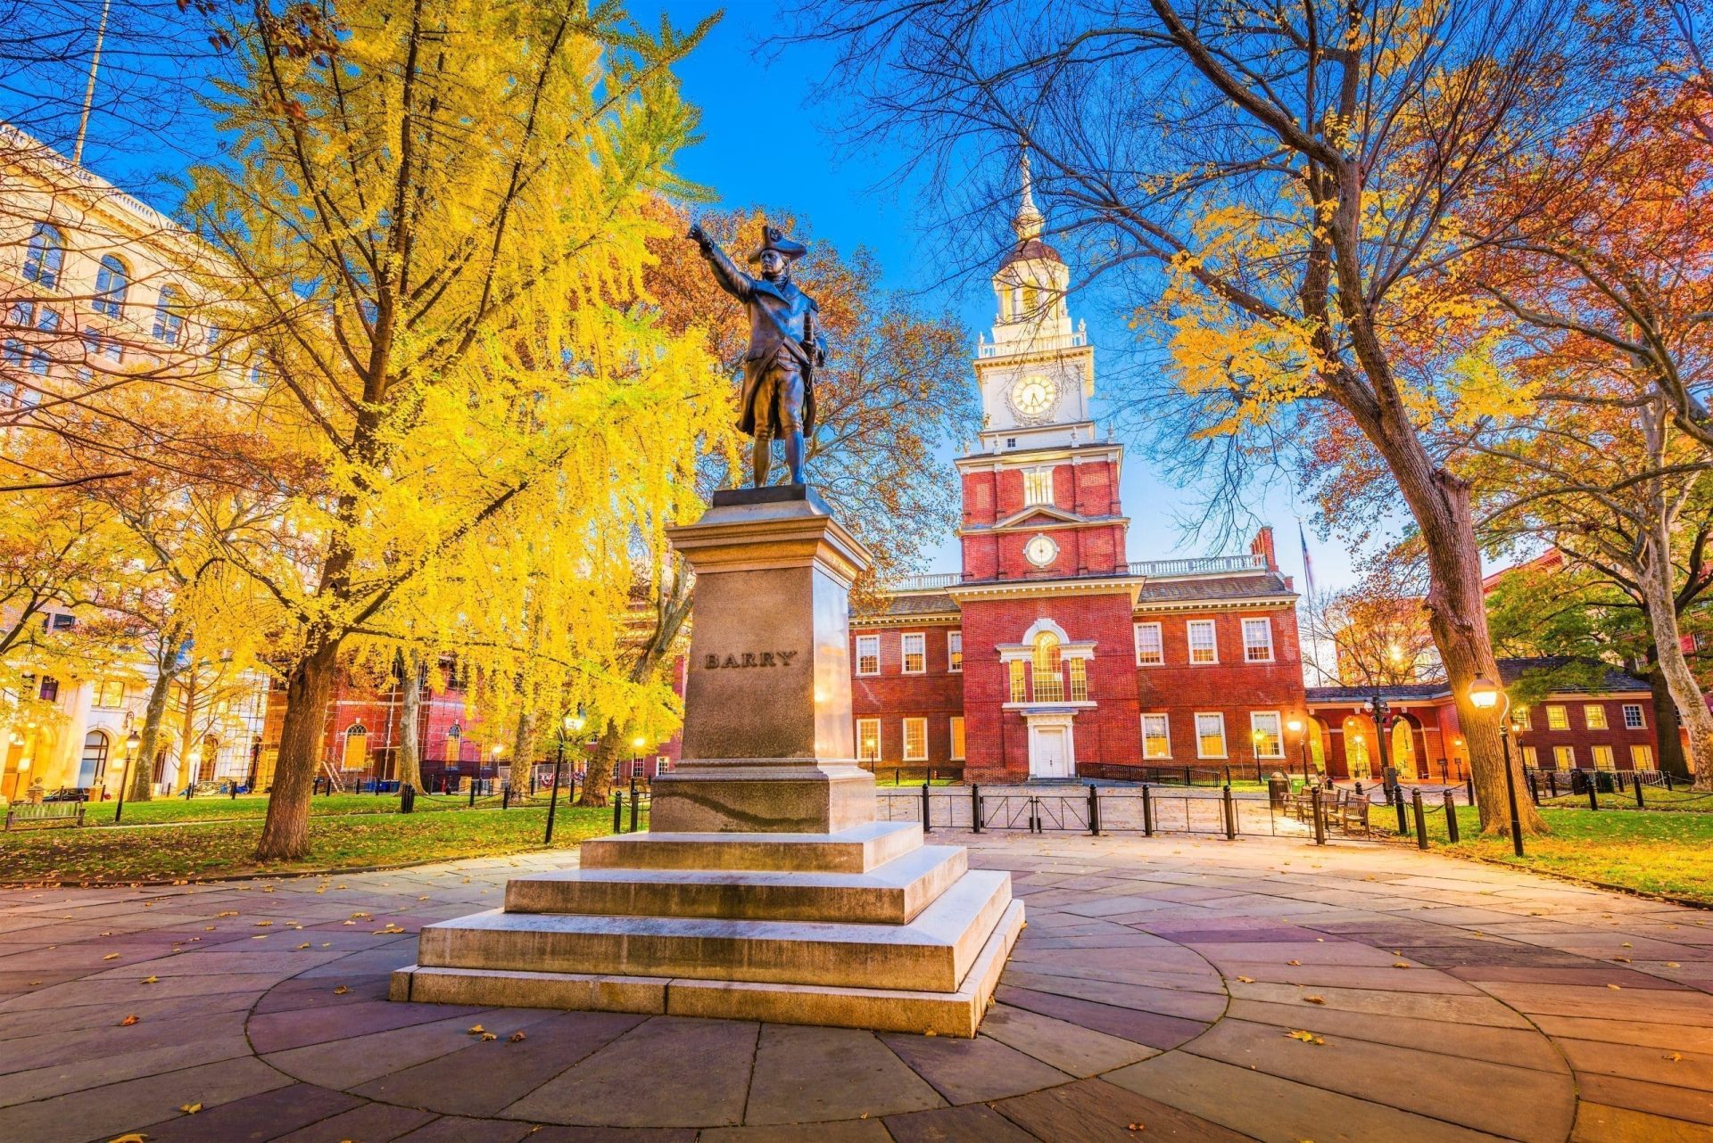
[[[704,31],[586,0],[257,3],[228,31],[228,152],[187,212],[301,474],[289,542],[209,556],[279,633],[260,859],[308,850],[353,654],[457,643],[478,671],[550,664],[567,702],[661,702],[608,664],[636,539],[690,506],[730,421],[699,342],[641,305],[644,202],[695,125],[670,68]]]

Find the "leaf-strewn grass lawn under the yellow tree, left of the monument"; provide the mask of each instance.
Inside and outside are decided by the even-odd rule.
[[[337,796],[317,801],[331,802]],[[391,801],[397,804],[396,797]],[[353,818],[349,811],[317,814],[310,821],[312,856],[298,862],[259,864],[252,859],[262,832],[260,814],[252,814],[250,821],[188,821],[142,830],[14,830],[0,833],[0,881],[173,881],[396,866],[541,849],[545,809],[423,813],[421,799],[416,806],[413,814],[375,818]],[[130,820],[128,808],[125,818]],[[646,821],[648,814],[642,816],[642,828],[648,828]],[[553,849],[572,849],[612,830],[612,809],[560,804],[553,820]]]

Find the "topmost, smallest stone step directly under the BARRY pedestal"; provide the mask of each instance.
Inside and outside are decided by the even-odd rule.
[[[584,869],[868,873],[922,845],[916,821],[838,833],[618,833],[582,844]]]

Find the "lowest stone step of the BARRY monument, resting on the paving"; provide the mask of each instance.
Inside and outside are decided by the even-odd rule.
[[[973,1037],[1021,931],[1023,902],[1011,902],[959,986],[949,992],[408,965],[392,974],[391,999]]]

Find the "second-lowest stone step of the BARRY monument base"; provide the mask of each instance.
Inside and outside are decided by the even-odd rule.
[[[1011,874],[963,874],[910,924],[492,912],[425,926],[430,968],[689,977],[951,992],[1000,914]]]

